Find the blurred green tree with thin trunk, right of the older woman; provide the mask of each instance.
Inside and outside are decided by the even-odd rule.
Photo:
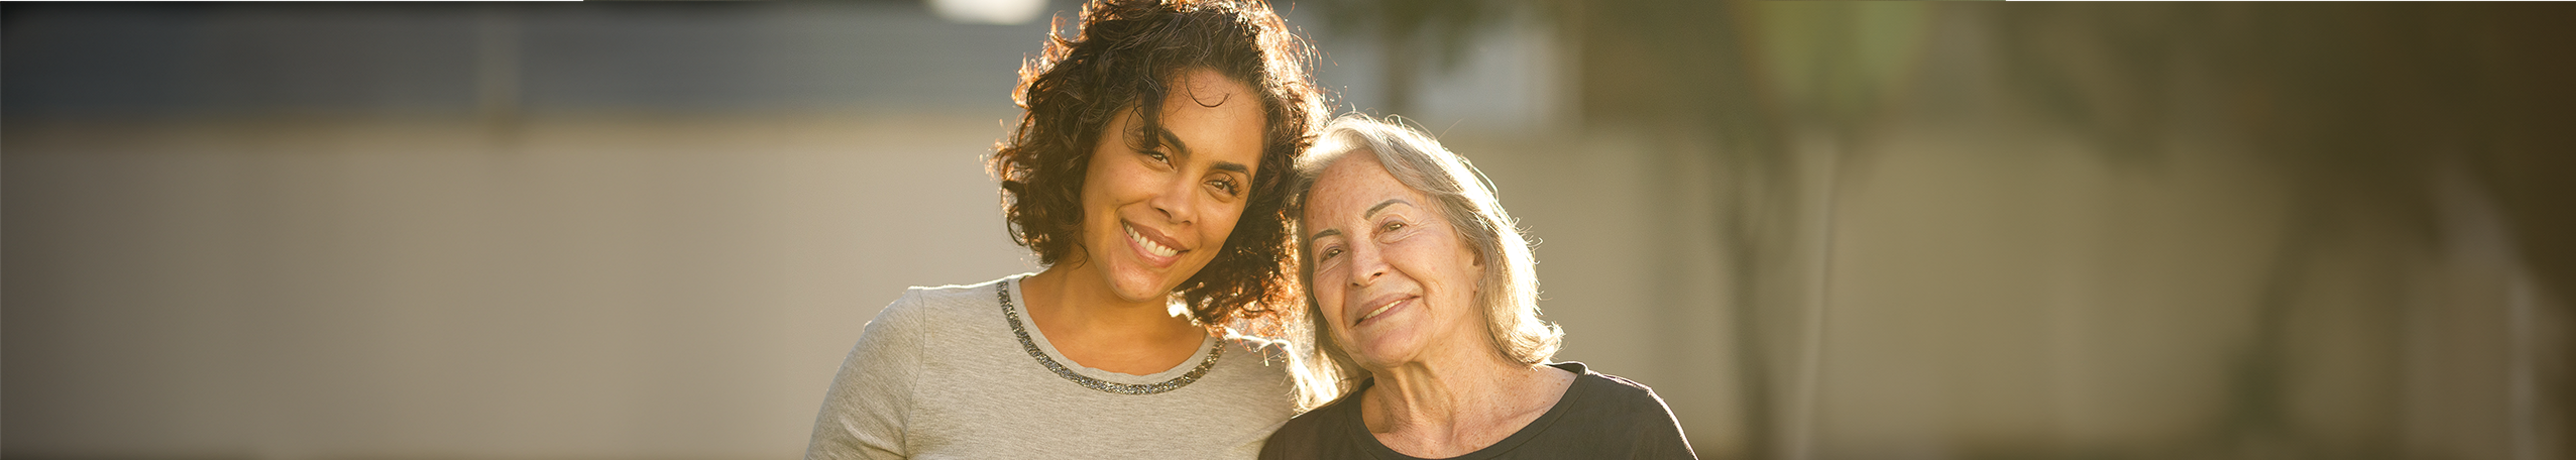
[[[1803,457],[1798,403],[1814,401],[1821,270],[1837,146],[1865,144],[1909,75],[1929,18],[1919,3],[1566,3],[1587,128],[1643,128],[1669,164],[1662,188],[1716,182],[1726,254],[1741,452]],[[1682,157],[1703,157],[1690,162]],[[1687,285],[1700,285],[1682,280]],[[1692,332],[1669,332],[1692,334]]]

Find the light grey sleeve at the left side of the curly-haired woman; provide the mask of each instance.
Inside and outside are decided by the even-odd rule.
[[[920,290],[907,290],[858,332],[814,416],[806,460],[909,457],[904,421],[920,370]]]

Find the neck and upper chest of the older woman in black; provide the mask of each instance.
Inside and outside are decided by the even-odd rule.
[[[1458,457],[1502,442],[1543,416],[1574,383],[1551,365],[1520,365],[1489,347],[1453,360],[1370,370],[1360,421],[1386,447],[1414,457]]]

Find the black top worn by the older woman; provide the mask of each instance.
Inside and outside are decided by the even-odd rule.
[[[1584,370],[1584,362],[1556,362],[1574,373],[1574,385],[1548,414],[1520,427],[1512,437],[1458,457],[1698,457],[1682,439],[1682,424],[1664,409],[1654,388],[1628,378]],[[1378,457],[1412,460],[1368,434],[1360,421],[1360,393],[1376,380],[1363,380],[1358,391],[1288,419],[1280,432],[1262,445],[1262,460],[1314,460],[1314,457]]]

